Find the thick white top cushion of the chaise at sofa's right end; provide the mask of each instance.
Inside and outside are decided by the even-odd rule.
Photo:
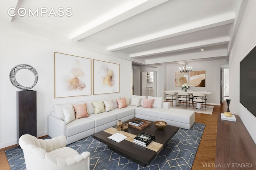
[[[195,112],[183,109],[167,109],[161,114],[162,119],[167,119],[171,121],[177,121],[181,123],[190,123],[195,120]]]

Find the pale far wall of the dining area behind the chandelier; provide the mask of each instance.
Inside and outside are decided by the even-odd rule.
[[[225,60],[191,62],[186,65],[192,66],[193,71],[205,70],[205,87],[190,87],[193,91],[208,91],[208,104],[220,105],[220,65],[225,64]],[[175,87],[175,72],[179,71],[180,64],[168,64],[166,75],[166,90],[181,90],[181,87]]]

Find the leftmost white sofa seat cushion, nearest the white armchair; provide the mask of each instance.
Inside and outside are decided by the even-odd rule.
[[[94,119],[89,119],[88,117],[82,117],[80,119],[75,119],[74,121],[66,125],[66,135],[70,137],[78,133],[87,131],[95,127]]]

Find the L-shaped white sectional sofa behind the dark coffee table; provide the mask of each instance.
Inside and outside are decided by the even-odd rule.
[[[140,99],[141,98],[141,99]],[[145,108],[143,106],[144,99],[146,96],[136,96],[132,95],[130,100],[126,98],[127,107],[118,108],[118,103],[116,98],[108,98],[106,100],[113,102],[114,109],[109,111],[104,111],[102,113],[94,114],[94,107],[92,106],[92,100],[78,102],[78,105],[86,103],[86,109],[88,112],[88,117],[82,117],[79,119],[74,119],[67,123],[65,121],[65,116],[62,108],[70,107],[77,105],[76,103],[67,103],[67,104],[56,104],[53,106],[54,110],[51,111],[51,114],[48,115],[48,135],[50,137],[58,137],[64,135],[66,137],[67,145],[73,142],[76,142],[80,139],[98,133],[104,129],[115,126],[118,120],[122,122],[128,121],[134,117],[140,119],[146,119],[149,121],[158,121],[164,120],[168,125],[173,125],[181,128],[190,129],[194,124],[194,114],[189,113],[186,110],[180,110],[183,113],[183,116],[179,116],[180,112],[170,111],[170,102],[163,102],[162,98],[156,98],[148,96],[147,99],[154,99],[152,108]],[[136,101],[140,100],[139,102]],[[145,100],[146,101],[146,100]],[[136,103],[136,104],[135,104]],[[132,105],[130,105],[132,104]],[[169,111],[168,111],[169,110]],[[168,115],[170,112],[170,116]],[[162,113],[164,113],[164,119],[162,118]],[[168,120],[174,118],[171,115],[177,114],[175,120]],[[187,114],[187,116],[186,116]],[[189,122],[188,122],[189,120]],[[186,125],[189,124],[189,125]],[[191,125],[192,124],[192,125]],[[185,125],[185,126],[184,126]],[[191,125],[191,126],[190,126]]]

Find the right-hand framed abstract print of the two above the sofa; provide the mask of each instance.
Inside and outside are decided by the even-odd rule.
[[[118,93],[119,64],[93,60],[93,94]]]

